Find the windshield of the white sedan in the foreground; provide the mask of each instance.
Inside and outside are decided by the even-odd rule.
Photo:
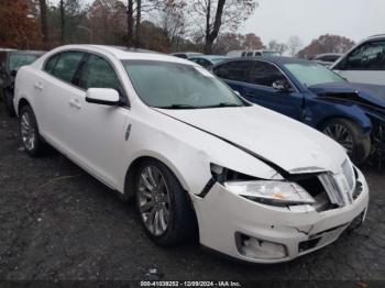
[[[242,99],[205,68],[154,60],[122,63],[136,93],[150,107],[197,109],[244,106]]]

